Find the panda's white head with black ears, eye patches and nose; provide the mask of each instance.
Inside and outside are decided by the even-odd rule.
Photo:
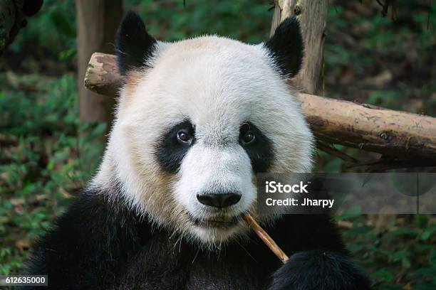
[[[156,41],[136,14],[118,30],[125,84],[94,185],[116,181],[155,225],[204,245],[244,235],[256,213],[256,173],[307,172],[313,137],[285,79],[303,44],[289,18],[248,45],[202,36]]]

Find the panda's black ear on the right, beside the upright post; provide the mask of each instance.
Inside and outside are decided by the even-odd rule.
[[[286,18],[276,28],[264,44],[284,77],[293,77],[301,68],[304,45],[299,21],[295,17]]]

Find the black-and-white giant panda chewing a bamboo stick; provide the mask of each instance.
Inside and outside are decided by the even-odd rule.
[[[258,45],[165,43],[129,12],[116,50],[123,86],[103,161],[28,274],[51,289],[370,289],[328,215],[257,213],[257,173],[311,170],[313,135],[286,82],[303,58],[295,18]]]

